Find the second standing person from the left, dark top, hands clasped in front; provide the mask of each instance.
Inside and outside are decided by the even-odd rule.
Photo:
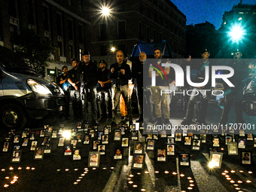
[[[80,95],[80,82],[81,82],[81,72],[78,69],[78,59],[72,59],[73,69],[68,72],[68,81],[72,86],[69,87],[70,90],[70,100],[72,101],[72,108],[74,111],[74,119],[81,120],[82,108],[81,108],[81,95]]]

